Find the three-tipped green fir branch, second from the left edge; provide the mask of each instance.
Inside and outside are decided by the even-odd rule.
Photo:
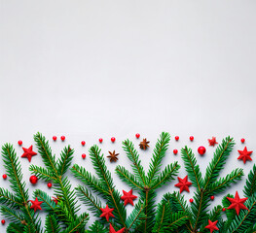
[[[46,169],[31,165],[29,170],[44,181],[52,180],[57,205],[43,191],[36,190],[34,196],[38,197],[39,201],[44,201],[45,210],[55,216],[57,223],[65,228],[64,232],[85,232],[85,225],[89,216],[86,213],[78,216],[80,208],[77,205],[75,191],[65,177],[65,173],[71,165],[74,150],[70,146],[65,147],[60,153],[60,158],[56,160],[55,154],[49,146],[49,141],[42,134],[34,135],[34,140]]]

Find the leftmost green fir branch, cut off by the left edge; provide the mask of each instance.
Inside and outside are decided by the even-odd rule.
[[[41,232],[41,220],[30,209],[28,189],[22,182],[21,166],[13,146],[5,144],[2,147],[4,167],[11,183],[12,192],[0,189],[1,214],[13,222],[7,232]]]

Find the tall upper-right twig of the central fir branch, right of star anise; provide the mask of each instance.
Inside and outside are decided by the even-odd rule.
[[[168,148],[169,140],[170,135],[169,133],[165,132],[163,132],[160,135],[160,139],[158,139],[158,142],[153,152],[153,157],[149,164],[149,172],[147,175],[148,185],[151,185],[151,183],[155,183],[155,180],[157,179],[157,176],[161,169],[162,160],[165,157],[165,151]]]

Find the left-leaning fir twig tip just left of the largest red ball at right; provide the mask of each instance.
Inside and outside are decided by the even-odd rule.
[[[202,179],[200,166],[197,164],[195,154],[187,146],[181,149],[182,159],[185,163],[185,169],[188,173],[189,179],[192,181],[192,185],[201,190]]]

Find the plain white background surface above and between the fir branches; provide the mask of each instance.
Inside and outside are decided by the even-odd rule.
[[[183,178],[180,153],[173,155],[173,149],[205,146],[206,154],[198,158],[204,173],[213,151],[207,139],[216,136],[220,142],[231,135],[237,146],[222,175],[236,167],[247,174],[253,162],[238,161],[237,150],[255,150],[255,11],[252,0],[1,0],[1,145],[13,143],[20,156],[19,139],[27,148],[34,145],[37,131],[49,139],[56,135],[53,150],[58,153],[70,144],[76,150],[74,163],[91,170],[90,159],[84,161],[81,154],[102,137],[105,154],[120,152],[118,163],[107,161],[114,171],[117,164],[128,167],[123,140],[130,138],[137,147],[134,134],[139,132],[151,141],[150,150],[141,152],[147,166],[159,134],[168,131],[172,139],[163,166],[180,161]],[[64,143],[61,135],[66,136]],[[180,136],[178,143],[175,135]],[[87,142],[84,148],[82,140]],[[28,181],[29,163],[20,161]],[[42,165],[40,156],[32,163]],[[120,191],[128,189],[114,179]],[[239,190],[242,196],[244,181],[227,192]],[[158,199],[178,190],[174,183]],[[42,182],[27,186],[30,193],[36,187],[52,192]]]

